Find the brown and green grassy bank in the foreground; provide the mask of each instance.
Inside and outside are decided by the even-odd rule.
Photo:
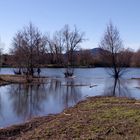
[[[140,101],[93,97],[58,115],[0,130],[2,139],[140,139]]]

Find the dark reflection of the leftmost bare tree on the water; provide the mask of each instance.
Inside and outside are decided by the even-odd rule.
[[[30,119],[42,111],[41,102],[46,98],[43,85],[11,85],[10,99],[17,116]]]

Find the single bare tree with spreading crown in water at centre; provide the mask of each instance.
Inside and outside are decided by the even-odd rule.
[[[84,33],[81,33],[76,27],[74,27],[74,30],[71,30],[68,25],[65,25],[62,31],[67,61],[67,69],[64,74],[67,77],[72,76],[74,73],[74,52],[80,47],[80,44],[84,41]]]

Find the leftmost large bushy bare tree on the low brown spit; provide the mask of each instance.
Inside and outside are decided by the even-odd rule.
[[[24,68],[27,75],[34,75],[35,68],[40,69],[41,57],[45,52],[46,37],[32,25],[19,31],[13,39],[12,53],[18,67]],[[39,72],[39,71],[37,71]]]

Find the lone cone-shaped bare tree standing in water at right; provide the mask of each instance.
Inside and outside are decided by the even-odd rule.
[[[124,56],[125,49],[119,31],[112,23],[106,28],[100,48],[102,60],[106,61],[106,66],[109,67],[109,74],[118,79],[126,71],[128,57]]]

